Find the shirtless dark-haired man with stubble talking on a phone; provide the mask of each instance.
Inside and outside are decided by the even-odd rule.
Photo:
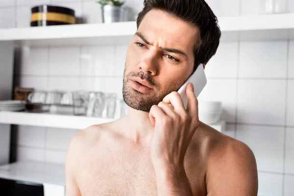
[[[256,196],[252,151],[199,122],[193,85],[186,110],[176,93],[216,53],[215,15],[204,0],[144,3],[126,54],[129,112],[73,137],[66,196]]]

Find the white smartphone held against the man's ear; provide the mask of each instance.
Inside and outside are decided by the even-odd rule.
[[[187,109],[188,98],[186,94],[186,88],[189,83],[194,84],[194,92],[196,98],[199,96],[203,88],[207,83],[206,75],[204,73],[203,64],[199,64],[196,71],[186,80],[186,82],[178,90],[181,98],[183,99],[185,109]]]

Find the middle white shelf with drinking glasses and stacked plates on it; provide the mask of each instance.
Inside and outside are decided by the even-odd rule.
[[[0,111],[0,124],[16,124],[27,126],[42,126],[52,128],[84,129],[93,124],[109,123],[113,119],[103,119],[85,116],[70,116],[49,113],[6,112]],[[222,132],[225,122],[220,121],[209,126]]]

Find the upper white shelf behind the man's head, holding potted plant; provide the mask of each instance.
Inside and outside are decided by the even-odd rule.
[[[294,38],[294,13],[219,17],[222,41]],[[136,22],[0,29],[0,41],[24,46],[128,44]]]

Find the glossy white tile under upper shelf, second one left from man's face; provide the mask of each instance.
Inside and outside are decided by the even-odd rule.
[[[81,74],[83,76],[114,75],[114,46],[83,47],[81,59]]]

